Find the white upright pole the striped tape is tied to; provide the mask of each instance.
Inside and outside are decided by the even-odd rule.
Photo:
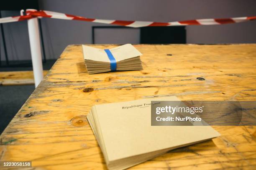
[[[41,80],[43,80],[44,78],[42,55],[41,55],[41,43],[40,43],[40,37],[39,37],[37,18],[32,18],[28,20],[28,35],[29,35],[35,86],[37,87],[41,82]]]

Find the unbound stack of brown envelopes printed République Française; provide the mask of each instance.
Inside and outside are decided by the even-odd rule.
[[[161,97],[91,108],[87,119],[108,169],[129,168],[169,150],[220,135],[210,126],[151,126],[151,100],[179,101],[177,97]]]

